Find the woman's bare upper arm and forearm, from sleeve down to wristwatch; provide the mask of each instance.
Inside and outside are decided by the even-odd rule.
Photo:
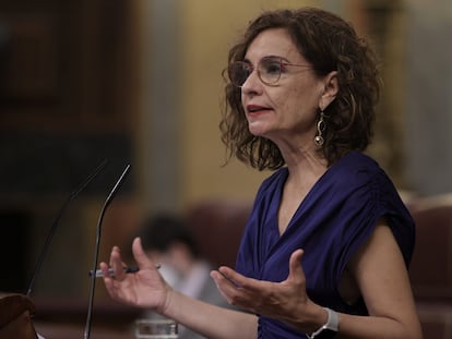
[[[383,220],[348,265],[369,317],[340,315],[338,338],[423,338],[408,274],[391,229]]]

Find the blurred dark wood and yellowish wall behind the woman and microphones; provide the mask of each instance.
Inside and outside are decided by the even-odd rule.
[[[350,21],[381,58],[369,154],[403,193],[451,192],[449,0],[0,0],[0,290],[26,291],[58,209],[104,159],[64,211],[32,295],[87,300],[98,214],[127,164],[102,261],[112,244],[129,251],[145,214],[251,203],[270,173],[223,166],[222,70],[262,10],[302,5]]]

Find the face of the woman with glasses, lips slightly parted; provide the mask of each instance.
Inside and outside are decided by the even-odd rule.
[[[281,78],[267,85],[255,69],[262,58],[269,57],[309,66],[283,64]],[[305,143],[313,146],[317,110],[323,105],[325,78],[314,74],[283,28],[259,34],[249,46],[245,61],[254,69],[241,87],[241,101],[251,134],[272,140],[279,148],[284,143],[296,147]]]

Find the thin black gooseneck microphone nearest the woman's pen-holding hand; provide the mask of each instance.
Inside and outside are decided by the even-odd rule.
[[[107,207],[110,205],[112,198],[115,197],[116,193],[119,191],[123,179],[126,178],[126,174],[130,170],[130,165],[126,166],[124,170],[122,171],[121,177],[119,177],[118,181],[116,182],[115,186],[112,187],[110,194],[107,196],[104,207],[100,210],[100,215],[97,221],[97,228],[96,228],[96,243],[94,246],[94,261],[93,261],[93,269],[92,271],[95,273],[97,265],[98,265],[98,256],[99,256],[99,244],[100,244],[100,234],[102,234],[102,221],[104,220],[105,211],[107,210]],[[96,275],[91,276],[91,286],[90,286],[90,302],[88,302],[88,311],[86,316],[86,326],[85,326],[85,334],[84,338],[90,339],[91,334],[91,323],[93,318],[93,303],[94,303],[94,290],[96,288]]]

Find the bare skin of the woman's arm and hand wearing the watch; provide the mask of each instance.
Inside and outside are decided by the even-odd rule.
[[[212,277],[231,304],[281,319],[309,334],[325,324],[326,312],[306,294],[309,277],[305,277],[299,264],[301,256],[301,250],[293,253],[289,275],[282,282],[250,279],[228,267],[213,271]],[[348,270],[370,316],[340,314],[337,338],[423,338],[402,254],[383,221],[352,259]]]

